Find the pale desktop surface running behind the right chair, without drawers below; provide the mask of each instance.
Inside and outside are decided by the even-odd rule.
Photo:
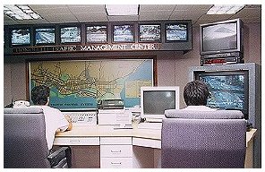
[[[250,142],[255,133],[256,129],[252,129],[246,133],[246,146]],[[71,131],[56,133],[56,137],[139,137],[145,139],[161,140],[160,130],[151,129],[138,129],[137,125],[133,125],[133,129],[114,129],[112,125],[94,125],[94,126],[80,126],[73,125]]]

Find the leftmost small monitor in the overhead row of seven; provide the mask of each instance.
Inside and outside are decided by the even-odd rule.
[[[30,46],[30,29],[11,30],[11,46]]]

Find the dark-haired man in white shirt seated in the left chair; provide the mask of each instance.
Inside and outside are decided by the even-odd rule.
[[[47,86],[36,86],[31,90],[31,100],[34,107],[43,109],[46,124],[46,140],[48,150],[52,149],[56,132],[71,130],[73,125],[70,116],[64,114],[54,107],[49,107],[50,89]]]

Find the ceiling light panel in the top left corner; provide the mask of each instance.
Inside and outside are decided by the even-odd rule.
[[[30,6],[25,4],[4,4],[4,15],[7,15],[16,20],[31,20],[40,19],[38,13],[30,9]]]

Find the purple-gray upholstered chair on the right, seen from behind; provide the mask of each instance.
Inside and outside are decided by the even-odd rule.
[[[162,168],[244,168],[246,121],[241,111],[166,110]]]

